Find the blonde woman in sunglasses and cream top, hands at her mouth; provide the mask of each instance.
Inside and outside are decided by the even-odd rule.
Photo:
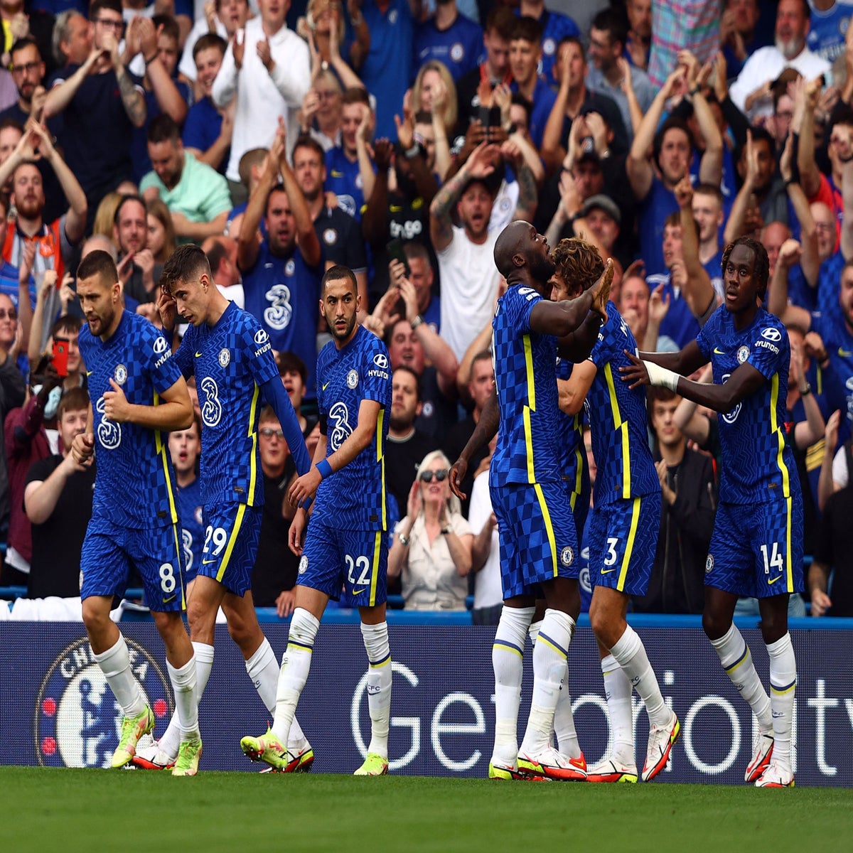
[[[406,517],[394,531],[388,577],[403,573],[407,610],[464,610],[471,571],[471,526],[450,494],[450,460],[441,450],[424,456],[409,491]]]

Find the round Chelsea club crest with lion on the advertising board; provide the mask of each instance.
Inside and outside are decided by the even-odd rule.
[[[127,641],[131,670],[160,724],[171,717],[171,689],[160,664],[142,646]],[[38,690],[35,750],[43,767],[109,767],[119,746],[122,711],[80,637],[50,664]]]

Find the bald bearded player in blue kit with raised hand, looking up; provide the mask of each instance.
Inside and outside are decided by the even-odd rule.
[[[519,221],[498,237],[495,264],[508,284],[492,322],[495,392],[450,473],[458,493],[471,456],[502,424],[490,466],[504,606],[492,647],[496,730],[489,776],[583,779],[582,762],[549,746],[580,612],[577,533],[562,479],[563,424],[554,369],[558,338],[564,338],[562,355],[589,355],[606,310],[612,262],[579,299],[551,302],[548,280],[555,266],[548,242],[530,223]],[[522,656],[540,585],[546,610],[533,650],[533,699],[519,750]]]

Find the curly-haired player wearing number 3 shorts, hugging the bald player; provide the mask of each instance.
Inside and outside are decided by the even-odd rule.
[[[601,275],[593,247],[569,251],[558,247],[560,278],[554,296],[577,296]],[[564,288],[561,289],[561,288]],[[577,415],[588,403],[589,425],[598,474],[589,529],[589,576],[595,585],[589,621],[601,653],[613,750],[602,767],[590,768],[588,780],[637,780],[631,688],[640,694],[649,719],[642,780],[652,780],[666,766],[680,732],[678,717],[664,703],[642,641],[625,621],[630,595],[644,595],[652,572],[660,525],[660,482],[647,438],[646,395],[618,382],[616,368],[635,351],[630,328],[612,302],[609,322],[601,328],[589,359],[572,368],[560,386],[560,408]]]

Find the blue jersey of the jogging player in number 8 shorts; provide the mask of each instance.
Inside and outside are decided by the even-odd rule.
[[[174,474],[165,433],[104,415],[104,397],[113,380],[129,403],[154,405],[158,395],[181,378],[171,347],[159,329],[125,311],[106,343],[89,327],[80,329],[80,356],[86,366],[94,416],[98,472],[93,516],[136,529],[177,521]]]

